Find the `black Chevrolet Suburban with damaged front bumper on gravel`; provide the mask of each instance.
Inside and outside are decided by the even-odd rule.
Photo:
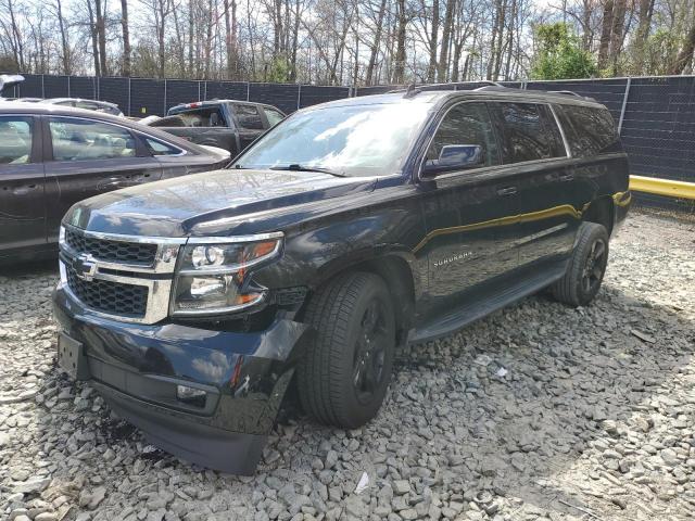
[[[317,421],[357,428],[396,346],[543,289],[591,303],[630,200],[590,99],[485,87],[313,106],[228,169],[71,208],[59,363],[154,445],[253,472],[291,385]]]

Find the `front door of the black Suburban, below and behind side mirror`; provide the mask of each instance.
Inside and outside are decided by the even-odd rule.
[[[485,103],[462,102],[446,112],[425,165],[443,161],[455,145],[480,147],[479,162],[433,176],[424,175],[424,167],[420,174],[427,236],[416,254],[428,256],[429,315],[450,310],[467,292],[517,267],[517,199]]]

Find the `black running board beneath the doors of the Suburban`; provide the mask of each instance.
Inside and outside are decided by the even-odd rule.
[[[485,291],[486,294],[491,295],[489,297],[476,298],[471,296],[466,304],[446,313],[437,320],[431,320],[417,328],[408,339],[408,343],[417,344],[451,334],[519,298],[536,293],[563,278],[566,269],[566,260],[554,263],[545,269],[539,270],[536,267],[534,275],[525,277],[520,274],[519,277],[515,277],[513,280],[518,280],[519,282],[517,283],[509,285],[507,282],[504,288],[497,291],[494,289]]]

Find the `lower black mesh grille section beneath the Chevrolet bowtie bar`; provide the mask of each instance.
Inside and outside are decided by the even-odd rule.
[[[148,307],[148,288],[110,280],[80,279],[71,265],[65,265],[67,287],[77,298],[92,309],[110,315],[143,317]]]

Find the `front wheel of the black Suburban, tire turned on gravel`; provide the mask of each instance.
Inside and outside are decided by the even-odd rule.
[[[387,284],[368,272],[339,276],[312,296],[305,322],[316,334],[298,365],[302,407],[320,423],[364,425],[391,380],[395,318]]]

